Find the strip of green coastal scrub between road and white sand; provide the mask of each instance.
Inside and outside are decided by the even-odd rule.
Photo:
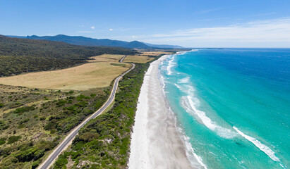
[[[54,168],[127,168],[138,96],[150,63],[135,65],[119,82],[113,108],[80,129]]]

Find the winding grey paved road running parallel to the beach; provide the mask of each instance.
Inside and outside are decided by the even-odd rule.
[[[126,56],[121,58],[121,60],[119,62],[122,63],[123,59],[125,57]],[[56,149],[54,149],[52,154],[49,155],[49,157],[44,161],[44,163],[42,163],[42,165],[40,165],[38,167],[39,169],[47,169],[47,168],[49,168],[49,166],[54,163],[54,161],[59,156],[59,154],[61,154],[61,152],[64,151],[69,144],[71,144],[71,142],[73,141],[73,138],[75,138],[76,134],[78,134],[78,130],[80,130],[80,128],[83,127],[88,121],[90,121],[93,118],[97,117],[97,115],[99,115],[99,113],[102,113],[114,101],[115,94],[116,94],[116,89],[118,88],[118,84],[119,84],[119,80],[121,79],[121,77],[123,77],[123,75],[126,75],[128,72],[130,72],[131,70],[133,70],[135,68],[135,64],[134,63],[131,63],[131,64],[133,65],[131,69],[127,70],[125,73],[123,73],[122,75],[120,75],[119,77],[116,78],[116,80],[114,82],[114,87],[111,90],[111,95],[109,96],[109,99],[106,101],[106,103],[101,108],[99,108],[99,110],[97,110],[95,113],[90,115],[89,118],[85,119],[83,121],[83,123],[80,123],[80,125],[75,127],[71,131],[71,133],[69,133],[68,136],[64,139],[64,141],[61,142],[61,144],[59,144],[59,146],[57,146]]]

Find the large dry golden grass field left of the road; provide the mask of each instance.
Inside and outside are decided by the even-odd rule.
[[[68,90],[87,90],[96,87],[107,87],[115,77],[128,70],[131,66],[125,63],[122,63],[122,65],[111,63],[114,62],[86,63],[62,70],[0,77],[0,84],[40,89]]]

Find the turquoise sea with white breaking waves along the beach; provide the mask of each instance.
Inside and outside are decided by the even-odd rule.
[[[289,168],[290,49],[189,51],[160,73],[193,165]]]

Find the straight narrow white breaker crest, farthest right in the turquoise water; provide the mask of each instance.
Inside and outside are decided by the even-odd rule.
[[[267,154],[267,156],[269,156],[270,158],[272,158],[273,161],[280,161],[279,158],[277,158],[277,156],[275,156],[274,151],[272,151],[265,144],[262,144],[258,139],[255,139],[253,137],[250,137],[250,136],[244,134],[243,132],[241,132],[240,130],[238,130],[238,128],[236,128],[235,126],[233,128],[234,128],[234,130],[236,130],[236,132],[238,132],[238,134],[241,134],[241,136],[243,136],[245,139],[248,139],[248,141],[250,141],[253,144],[255,144],[255,146],[257,146],[258,149],[260,149],[265,154]]]

